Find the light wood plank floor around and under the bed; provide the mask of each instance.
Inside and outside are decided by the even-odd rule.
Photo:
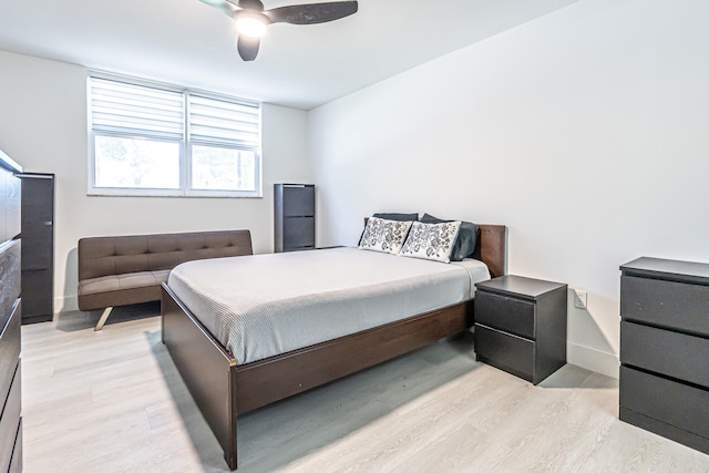
[[[22,328],[25,472],[226,470],[160,318],[142,317],[156,310],[101,332],[80,312]],[[242,417],[239,472],[709,472],[709,455],[619,422],[617,402],[614,379],[566,366],[533,387],[439,342]]]

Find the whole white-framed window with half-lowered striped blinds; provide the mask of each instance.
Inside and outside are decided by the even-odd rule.
[[[89,193],[259,197],[260,106],[89,78]]]

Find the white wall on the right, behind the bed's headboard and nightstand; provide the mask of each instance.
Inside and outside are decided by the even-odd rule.
[[[709,261],[707,18],[580,1],[311,111],[320,244],[373,212],[505,224],[511,274],[588,291],[569,362],[617,376],[618,266]]]

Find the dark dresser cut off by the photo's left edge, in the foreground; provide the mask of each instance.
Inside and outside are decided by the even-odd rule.
[[[22,471],[20,167],[0,152],[0,472]]]

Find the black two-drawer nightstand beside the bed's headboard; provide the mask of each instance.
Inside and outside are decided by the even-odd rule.
[[[477,361],[533,384],[566,364],[565,284],[503,276],[475,288]]]

